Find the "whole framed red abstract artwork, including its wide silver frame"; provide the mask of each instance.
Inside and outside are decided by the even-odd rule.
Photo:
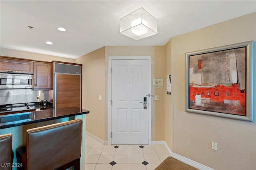
[[[254,121],[254,41],[186,53],[186,112]]]

